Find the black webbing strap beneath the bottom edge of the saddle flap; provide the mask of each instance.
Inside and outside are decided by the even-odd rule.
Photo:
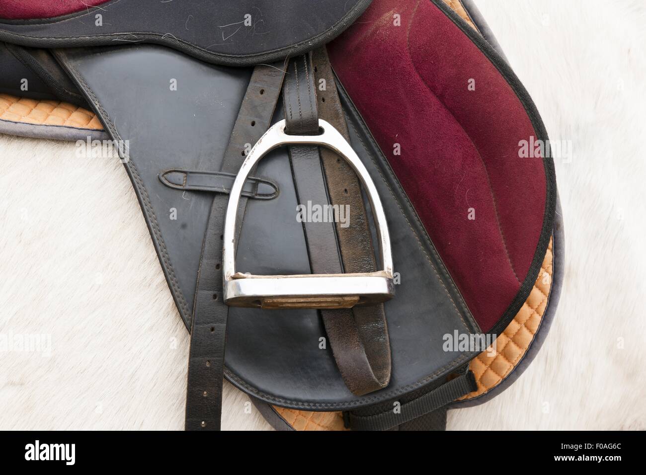
[[[344,412],[343,417],[346,427],[353,430],[390,430],[420,417],[429,416],[426,430],[441,430],[442,421],[446,425],[446,414],[438,411],[445,410],[444,406],[475,390],[477,390],[475,376],[469,370],[398,408],[390,408],[370,416]]]

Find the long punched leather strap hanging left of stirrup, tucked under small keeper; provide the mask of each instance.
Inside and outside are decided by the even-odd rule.
[[[258,65],[253,70],[229,138],[222,172],[238,173],[245,158],[245,144],[257,142],[271,125],[284,74],[282,63]],[[240,198],[242,213],[246,200],[244,196]],[[224,304],[222,295],[221,236],[228,202],[229,195],[214,196],[202,244],[189,350],[187,430],[220,430],[224,349],[229,314],[229,307]]]

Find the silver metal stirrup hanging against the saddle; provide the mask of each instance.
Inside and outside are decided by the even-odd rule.
[[[386,215],[368,170],[350,144],[328,122],[319,119],[322,134],[287,135],[285,121],[275,123],[253,146],[231,187],[224,220],[223,275],[224,302],[236,307],[262,308],[352,308],[355,305],[384,302],[395,295],[393,258]],[[368,194],[377,225],[382,270],[368,273],[251,275],[236,272],[235,229],[242,187],[254,165],[281,145],[322,145],[344,157]]]

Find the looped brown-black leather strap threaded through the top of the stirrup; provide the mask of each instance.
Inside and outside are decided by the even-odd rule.
[[[283,101],[287,134],[317,134],[318,118],[322,118],[348,140],[325,48],[290,61]],[[375,271],[370,229],[356,174],[345,160],[327,149],[319,154],[315,146],[290,146],[289,156],[300,204],[349,207],[347,227],[340,222],[303,223],[311,271],[316,274]],[[383,305],[320,310],[320,314],[337,367],[349,390],[360,396],[386,387],[391,359]]]

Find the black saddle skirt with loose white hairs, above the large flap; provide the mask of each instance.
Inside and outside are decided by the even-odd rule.
[[[157,43],[197,59],[251,66],[343,32],[371,0],[114,0],[67,16],[0,20],[0,40],[39,48]]]

